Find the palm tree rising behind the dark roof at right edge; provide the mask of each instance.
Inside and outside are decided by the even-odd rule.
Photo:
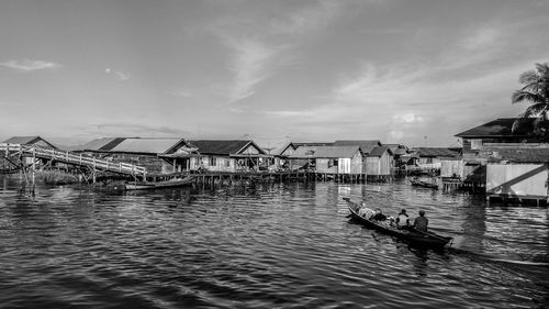
[[[549,137],[549,63],[536,64],[536,69],[523,73],[518,81],[524,86],[513,92],[511,102],[527,101],[530,106],[515,120],[513,132],[524,125],[525,119],[536,118],[533,133]]]

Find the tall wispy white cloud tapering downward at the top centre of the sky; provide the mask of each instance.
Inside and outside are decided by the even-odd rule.
[[[334,1],[316,1],[300,8],[291,5],[274,19],[270,14],[240,15],[215,24],[214,34],[229,48],[229,103],[254,96],[261,82],[294,64],[303,38],[327,26],[338,5]]]

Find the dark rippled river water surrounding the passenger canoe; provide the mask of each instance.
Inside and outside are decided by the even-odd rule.
[[[350,222],[424,209],[451,249]],[[404,181],[123,192],[0,178],[0,308],[549,308],[547,208]]]

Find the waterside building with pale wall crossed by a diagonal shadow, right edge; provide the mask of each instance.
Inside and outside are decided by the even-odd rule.
[[[524,199],[542,201],[549,198],[549,145],[491,146],[486,165],[489,199]]]

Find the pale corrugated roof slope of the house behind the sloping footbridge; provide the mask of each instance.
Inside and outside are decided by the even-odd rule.
[[[116,153],[164,154],[180,142],[182,142],[182,139],[124,139],[110,151]]]

